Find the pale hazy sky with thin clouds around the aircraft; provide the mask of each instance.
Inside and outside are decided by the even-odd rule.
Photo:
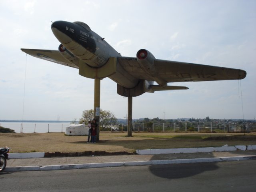
[[[134,97],[133,118],[256,116],[255,0],[0,0],[0,120],[73,120],[93,108],[93,79],[20,50],[58,50],[56,20],[88,24],[122,56],[145,48],[158,59],[247,72],[240,81],[168,83],[189,89]],[[100,108],[124,119],[127,100],[101,81]]]

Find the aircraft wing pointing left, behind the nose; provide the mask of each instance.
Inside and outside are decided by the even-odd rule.
[[[21,50],[31,56],[78,69],[78,66],[66,60],[58,50],[42,50],[42,49],[21,49]]]

